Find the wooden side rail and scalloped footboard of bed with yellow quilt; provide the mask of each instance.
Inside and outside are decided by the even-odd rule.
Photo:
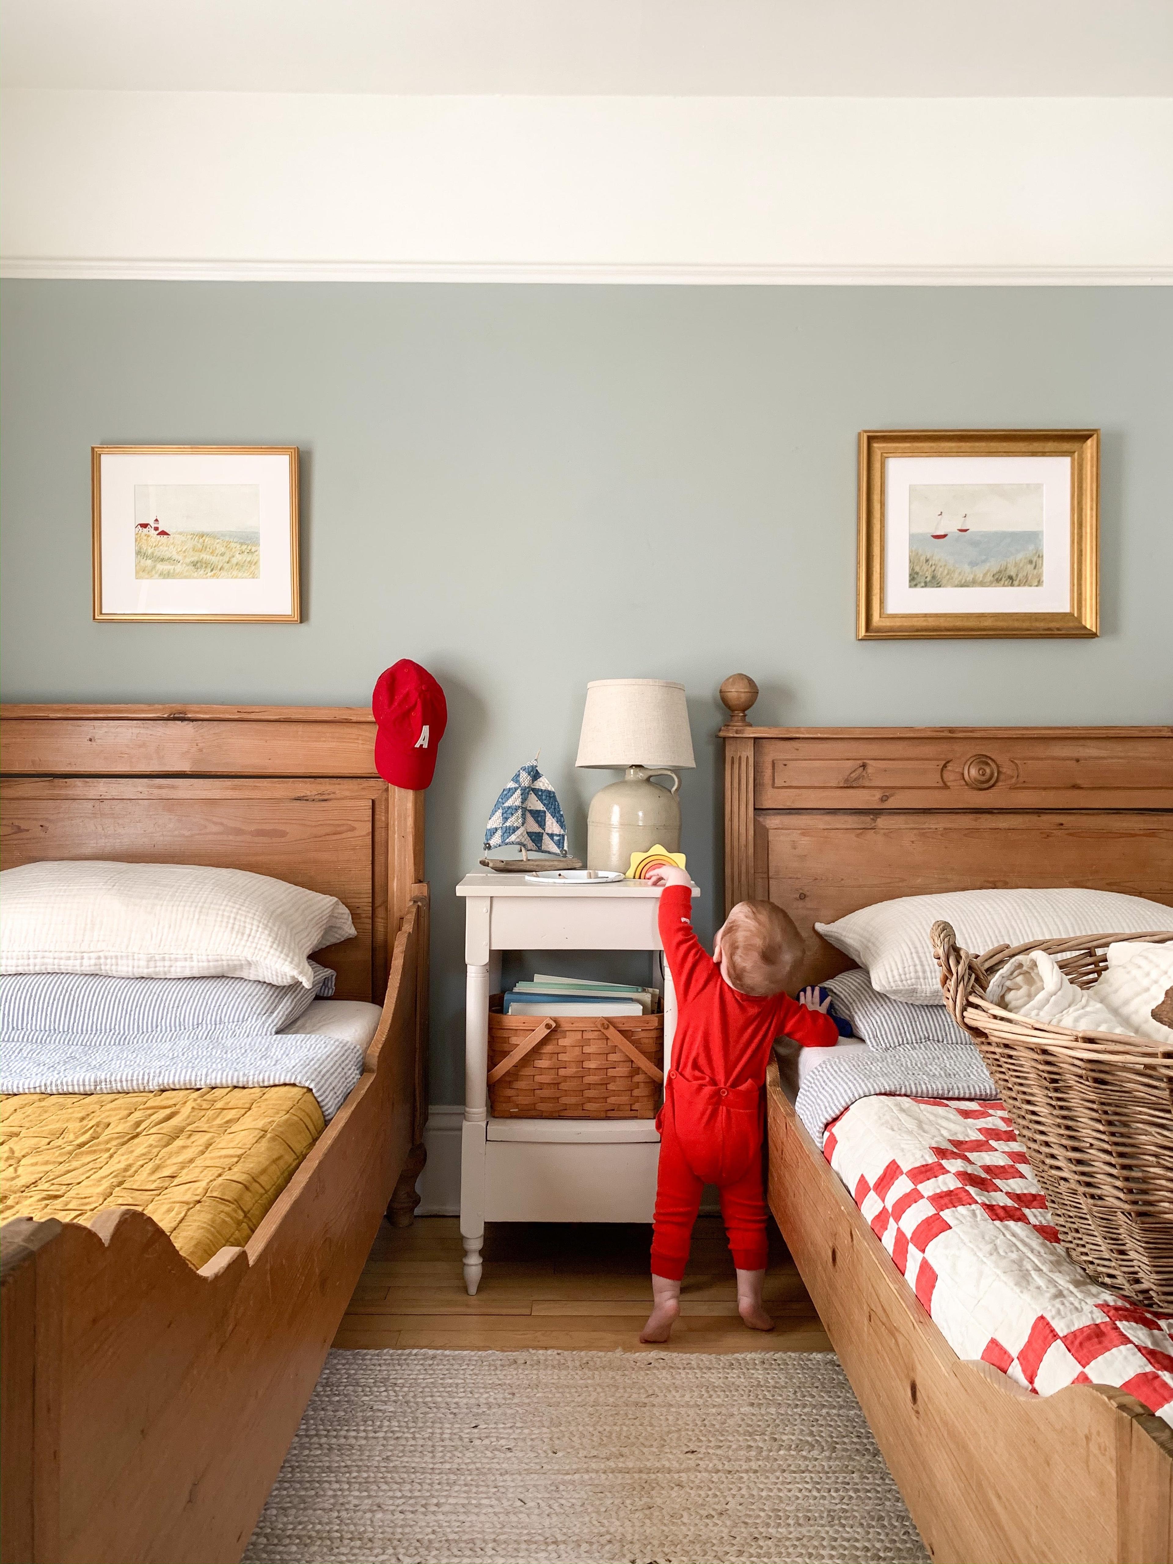
[[[135,1211],[3,1228],[5,1564],[235,1564],[413,1143],[427,887],[361,1081],[246,1248]]]

